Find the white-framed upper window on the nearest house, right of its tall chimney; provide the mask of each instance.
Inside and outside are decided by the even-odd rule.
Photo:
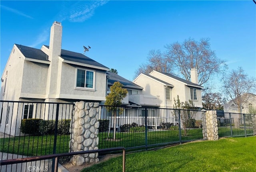
[[[77,68],[76,88],[95,88],[95,71]]]

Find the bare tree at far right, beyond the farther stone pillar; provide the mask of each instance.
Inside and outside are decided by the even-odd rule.
[[[256,92],[256,79],[244,73],[241,67],[232,70],[222,78],[223,92],[238,107],[238,112],[242,113],[242,105],[247,102],[250,94]]]

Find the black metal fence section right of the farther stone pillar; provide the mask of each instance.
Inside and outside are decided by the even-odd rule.
[[[256,135],[256,115],[241,113],[217,113],[219,137]]]

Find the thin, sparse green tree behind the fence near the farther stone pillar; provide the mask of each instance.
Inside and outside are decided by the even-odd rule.
[[[173,107],[175,109],[196,109],[192,100],[188,100],[188,102],[187,101],[180,102],[179,95],[177,96],[177,100],[175,100],[175,98],[174,98]],[[191,114],[190,114],[190,111],[188,111],[188,110],[181,111],[181,113],[180,113],[180,120],[182,122],[184,135],[187,135],[187,125],[190,125],[190,123],[188,122],[190,116],[191,116]]]

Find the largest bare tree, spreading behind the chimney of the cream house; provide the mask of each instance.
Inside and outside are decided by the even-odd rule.
[[[218,59],[210,48],[210,39],[202,38],[199,42],[189,38],[183,43],[166,45],[168,62],[174,64],[186,80],[190,80],[190,70],[198,70],[198,83],[206,83],[210,76],[222,72],[225,61]]]

